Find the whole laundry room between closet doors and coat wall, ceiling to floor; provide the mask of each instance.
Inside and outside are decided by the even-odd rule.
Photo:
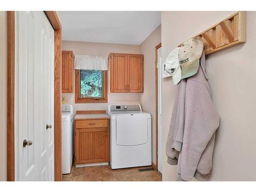
[[[59,14],[62,180],[160,181],[156,65],[161,13]]]

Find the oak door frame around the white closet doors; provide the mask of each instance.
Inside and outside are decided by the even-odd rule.
[[[54,180],[61,181],[61,24],[56,11],[44,11],[54,29]],[[7,181],[15,181],[14,67],[15,11],[7,11]]]

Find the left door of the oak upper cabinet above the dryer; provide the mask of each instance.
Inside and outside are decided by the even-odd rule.
[[[110,54],[110,91],[112,93],[127,92],[127,55]]]

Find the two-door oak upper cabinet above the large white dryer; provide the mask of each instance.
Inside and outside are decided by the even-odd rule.
[[[109,55],[110,92],[143,92],[143,55],[111,53]]]

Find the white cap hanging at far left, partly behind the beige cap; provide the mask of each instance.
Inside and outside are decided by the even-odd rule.
[[[177,47],[175,50],[173,50],[165,61],[165,71],[167,71],[170,76],[173,77],[174,85],[178,84],[181,80],[181,69],[178,60],[179,49],[180,47]]]

